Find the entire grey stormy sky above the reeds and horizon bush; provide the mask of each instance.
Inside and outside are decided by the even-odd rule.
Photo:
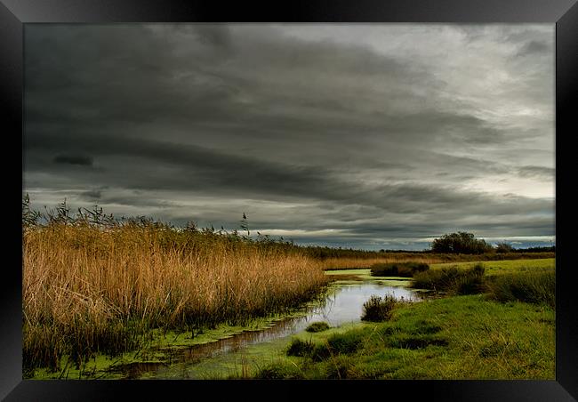
[[[555,241],[554,25],[25,25],[32,206],[298,244]]]

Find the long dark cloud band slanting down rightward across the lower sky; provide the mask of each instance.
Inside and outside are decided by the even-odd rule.
[[[91,149],[94,155],[133,158],[134,164],[125,164],[123,173],[101,173],[91,182],[132,189],[195,189],[197,193],[223,194],[252,197],[291,197],[330,200],[344,205],[369,205],[383,211],[397,213],[436,213],[439,210],[458,208],[462,213],[486,213],[486,205],[494,205],[493,214],[506,214],[536,203],[496,203],[482,193],[465,192],[455,187],[413,184],[380,184],[367,186],[340,177],[339,171],[321,166],[285,165],[224,154],[212,149],[170,144],[162,141],[145,141],[121,136],[100,136],[92,141],[58,141],[36,136],[28,141],[28,149],[63,149],[76,151]],[[459,159],[459,158],[458,158]],[[173,166],[172,174],[158,175],[153,169],[143,170],[140,160],[154,166]],[[108,170],[116,170],[108,166]],[[34,168],[30,168],[34,171]]]

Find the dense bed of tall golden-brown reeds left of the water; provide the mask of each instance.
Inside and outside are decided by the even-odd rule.
[[[295,249],[153,224],[26,226],[22,252],[25,369],[282,312],[326,281]]]

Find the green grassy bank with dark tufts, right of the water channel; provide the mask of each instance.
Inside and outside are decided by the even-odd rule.
[[[381,323],[298,334],[251,375],[553,379],[555,284],[553,259],[433,266],[416,273],[412,285],[445,297],[383,306]],[[380,307],[371,301],[365,312]]]

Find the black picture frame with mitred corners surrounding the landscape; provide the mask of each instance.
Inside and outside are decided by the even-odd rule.
[[[191,382],[191,381],[34,381],[22,379],[21,253],[18,237],[4,242],[15,261],[4,263],[3,326],[0,337],[0,398],[20,400],[116,400],[129,398],[309,398],[312,386],[323,398],[352,391],[361,398],[440,398],[468,401],[571,401],[578,398],[578,306],[571,266],[572,239],[567,207],[561,203],[572,189],[569,176],[574,157],[564,143],[576,133],[573,122],[578,88],[578,5],[576,0],[305,0],[268,4],[162,0],[0,0],[0,88],[4,110],[4,138],[23,138],[23,27],[36,22],[455,22],[556,24],[556,224],[557,314],[556,380],[553,381],[390,381],[390,382]],[[574,129],[574,130],[573,130]],[[7,154],[18,155],[6,148]],[[23,160],[23,159],[22,159]],[[3,158],[12,175],[13,161]],[[24,165],[22,165],[24,168]],[[21,179],[21,176],[20,176]],[[21,191],[21,180],[20,180]],[[15,197],[10,192],[10,197]],[[12,199],[12,198],[11,198]],[[15,198],[14,204],[16,203]],[[16,208],[9,205],[10,210]],[[20,230],[16,218],[10,223]],[[19,228],[19,229],[17,229]],[[20,237],[21,241],[21,237]],[[14,244],[12,245],[12,243]],[[564,266],[563,266],[564,265]],[[319,386],[321,384],[321,386]],[[239,392],[223,397],[223,391]],[[292,392],[293,391],[293,392]],[[181,396],[175,396],[180,392]],[[273,392],[273,393],[271,393]],[[394,397],[394,395],[396,395]],[[205,394],[206,395],[206,394]]]

